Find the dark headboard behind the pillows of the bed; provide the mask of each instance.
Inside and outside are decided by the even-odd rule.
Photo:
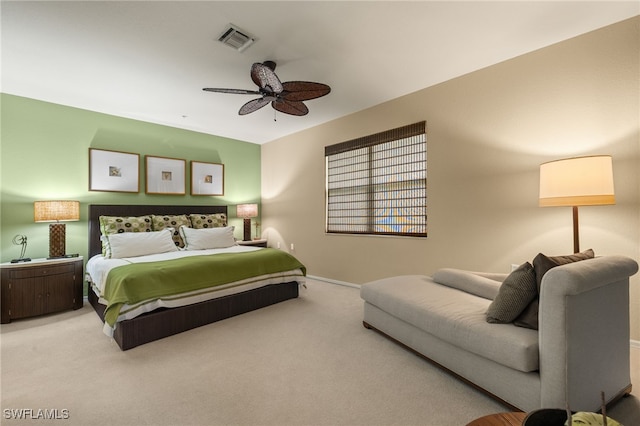
[[[125,205],[125,204],[90,204],[89,205],[89,257],[102,253],[100,242],[100,216],[144,216],[144,215],[178,215],[178,214],[227,214],[227,206],[159,206],[159,205]],[[227,215],[228,217],[228,215]]]

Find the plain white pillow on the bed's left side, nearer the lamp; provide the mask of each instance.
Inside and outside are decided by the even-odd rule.
[[[120,234],[107,234],[101,237],[102,241],[109,245],[111,257],[121,259],[123,257],[144,256],[147,254],[168,253],[178,251],[171,235],[173,228],[163,229],[157,232],[122,232]]]

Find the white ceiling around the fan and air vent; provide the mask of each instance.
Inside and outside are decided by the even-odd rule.
[[[640,14],[638,1],[2,0],[1,91],[265,143]],[[256,36],[217,41],[233,23]],[[255,89],[253,62],[282,81],[331,86],[294,117],[203,87]]]

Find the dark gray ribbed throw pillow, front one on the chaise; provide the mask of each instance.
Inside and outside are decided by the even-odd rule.
[[[500,286],[500,291],[487,310],[487,322],[506,324],[538,296],[533,266],[525,262],[514,270]]]

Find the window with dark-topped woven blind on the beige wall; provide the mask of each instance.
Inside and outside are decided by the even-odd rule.
[[[427,236],[426,123],[325,147],[326,231]]]

